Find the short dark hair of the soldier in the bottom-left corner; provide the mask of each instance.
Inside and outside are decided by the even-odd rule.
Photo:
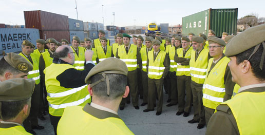
[[[22,101],[5,102],[1,101],[2,107],[2,119],[12,120],[23,109],[26,104],[30,104],[31,98]]]

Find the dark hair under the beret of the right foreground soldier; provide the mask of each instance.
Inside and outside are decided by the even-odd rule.
[[[265,42],[265,41],[264,41]],[[243,62],[244,60],[248,60],[250,55],[252,54],[252,52],[254,51],[256,46],[244,51],[244,52],[241,52],[236,56],[236,64],[240,64],[241,62]],[[262,43],[261,45],[259,46],[258,50],[256,53],[254,53],[249,62],[252,66],[251,68],[251,71],[254,73],[254,76],[256,78],[258,78],[260,81],[264,81],[265,80],[265,61],[263,61],[263,67],[262,69],[259,68],[259,64],[260,64],[260,58],[261,58],[261,55],[262,55],[262,52],[263,52],[263,46],[262,46]]]

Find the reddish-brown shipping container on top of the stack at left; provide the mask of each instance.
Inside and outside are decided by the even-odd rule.
[[[69,30],[68,16],[42,10],[24,11],[26,28],[39,30]]]

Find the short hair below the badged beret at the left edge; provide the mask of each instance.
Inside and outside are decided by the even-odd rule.
[[[2,57],[2,59],[0,60],[0,75],[4,75],[4,73],[7,71],[11,72],[14,75],[21,73],[20,70],[13,68],[10,64],[6,62],[4,57]]]

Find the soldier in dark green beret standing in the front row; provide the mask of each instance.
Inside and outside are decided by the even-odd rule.
[[[135,109],[139,109],[138,106],[138,89],[137,89],[137,65],[142,68],[141,55],[136,45],[130,45],[131,36],[123,33],[124,45],[119,46],[116,52],[116,57],[124,61],[128,67],[128,81],[127,84],[130,88],[131,100]],[[126,101],[127,100],[127,101]],[[130,103],[130,97],[122,99],[120,104],[120,110],[124,109],[125,101]]]

